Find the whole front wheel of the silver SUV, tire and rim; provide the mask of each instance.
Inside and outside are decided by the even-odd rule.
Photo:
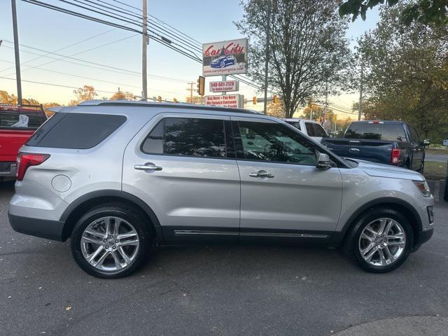
[[[374,208],[360,217],[349,233],[346,246],[358,265],[368,272],[386,273],[407,259],[412,247],[412,228],[400,212]]]

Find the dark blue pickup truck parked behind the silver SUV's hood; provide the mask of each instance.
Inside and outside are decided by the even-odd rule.
[[[355,121],[344,138],[326,138],[322,144],[343,158],[405,167],[423,173],[425,146],[414,127],[401,121]]]

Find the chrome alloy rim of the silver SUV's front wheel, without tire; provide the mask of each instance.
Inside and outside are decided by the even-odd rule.
[[[378,218],[367,224],[359,237],[359,252],[374,266],[387,266],[405,251],[406,233],[392,218]]]

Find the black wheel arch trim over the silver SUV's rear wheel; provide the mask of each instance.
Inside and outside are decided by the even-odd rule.
[[[160,221],[155,215],[153,209],[151,209],[151,207],[149,207],[148,204],[142,201],[139,197],[126,193],[122,190],[97,190],[87,193],[71,202],[60,218],[60,221],[64,222],[62,241],[66,241],[66,239],[71,236],[71,232],[76,225],[76,221],[78,221],[80,216],[83,216],[87,209],[106,202],[120,202],[137,207],[146,216],[148,223],[153,225],[156,239],[159,242],[164,241]]]

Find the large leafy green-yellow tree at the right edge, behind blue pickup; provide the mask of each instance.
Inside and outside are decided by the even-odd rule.
[[[377,29],[358,41],[365,64],[367,119],[405,120],[424,137],[448,135],[448,29],[400,18],[405,5],[381,10]]]

